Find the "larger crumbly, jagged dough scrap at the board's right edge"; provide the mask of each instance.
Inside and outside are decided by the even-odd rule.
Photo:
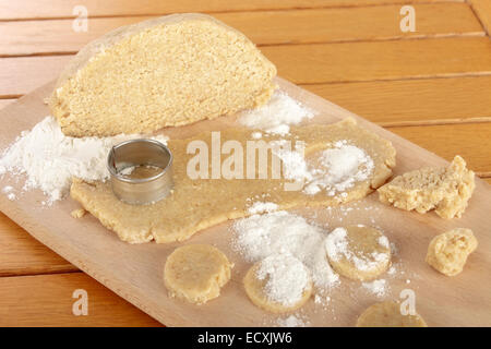
[[[379,188],[379,198],[402,209],[434,209],[442,218],[459,218],[476,188],[474,178],[457,155],[446,168],[421,168],[394,178]]]

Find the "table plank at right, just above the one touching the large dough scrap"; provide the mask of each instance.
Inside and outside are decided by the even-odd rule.
[[[491,76],[303,87],[384,127],[491,121]]]

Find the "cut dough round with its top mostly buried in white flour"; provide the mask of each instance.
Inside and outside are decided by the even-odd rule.
[[[302,262],[289,254],[255,263],[243,279],[252,303],[273,313],[294,311],[312,294],[312,278]]]

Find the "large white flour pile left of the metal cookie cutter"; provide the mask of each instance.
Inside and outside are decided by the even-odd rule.
[[[106,180],[109,172],[106,159],[109,149],[117,143],[141,135],[113,137],[65,136],[55,118],[47,117],[33,130],[21,136],[0,158],[0,176],[25,173],[23,190],[40,189],[48,196],[48,204],[67,195],[72,177],[87,181]],[[167,137],[156,140],[166,142]]]

